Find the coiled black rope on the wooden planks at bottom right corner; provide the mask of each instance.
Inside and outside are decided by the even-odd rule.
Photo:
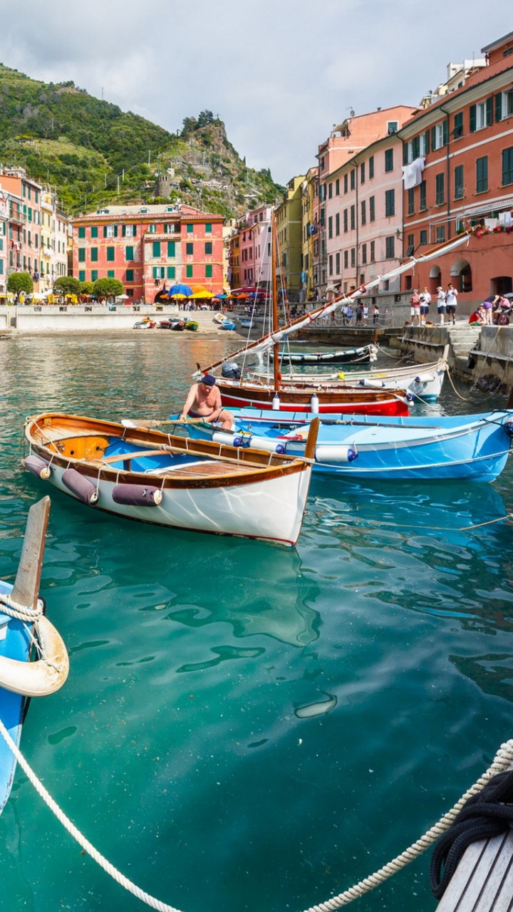
[[[465,807],[434,846],[429,868],[431,890],[444,896],[466,849],[480,839],[507,833],[513,826],[513,772],[499,772]]]

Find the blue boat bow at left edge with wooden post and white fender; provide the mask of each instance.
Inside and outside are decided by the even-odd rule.
[[[49,505],[44,497],[28,512],[15,585],[0,580],[0,814],[16,772],[5,733],[19,747],[30,698],[54,693],[68,677],[66,647],[38,599]],[[35,646],[38,658],[30,661]]]

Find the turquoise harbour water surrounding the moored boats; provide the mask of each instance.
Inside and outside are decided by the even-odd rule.
[[[513,736],[513,526],[462,531],[513,512],[513,462],[493,485],[315,479],[294,550],[120,522],[21,470],[25,416],[163,418],[229,343],[1,345],[1,578],[52,498],[42,594],[70,675],[32,701],[22,750],[56,801],[183,912],[301,912],[402,852]],[[2,909],[144,908],[20,770],[0,846]],[[431,912],[428,865],[354,908]]]

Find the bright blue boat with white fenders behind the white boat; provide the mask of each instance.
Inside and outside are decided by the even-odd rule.
[[[234,430],[206,422],[191,437],[300,455],[309,423],[300,413],[273,418],[260,409],[232,409]],[[314,472],[368,480],[467,479],[492,482],[503,471],[513,436],[510,408],[476,415],[330,416],[322,420]]]

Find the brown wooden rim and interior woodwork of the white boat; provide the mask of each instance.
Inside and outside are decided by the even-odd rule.
[[[48,423],[44,423],[48,422]],[[55,422],[55,423],[54,423]],[[71,423],[77,424],[77,432],[71,433]],[[51,460],[53,465],[59,468],[74,468],[77,472],[93,482],[108,481],[127,484],[149,484],[155,483],[162,489],[173,488],[215,488],[230,487],[246,484],[254,484],[262,481],[270,481],[285,475],[304,472],[309,467],[309,462],[303,457],[291,457],[286,454],[268,453],[258,451],[237,451],[237,459],[226,455],[226,451],[233,451],[233,448],[226,447],[223,444],[212,443],[210,440],[194,440],[178,437],[171,434],[164,434],[159,430],[141,430],[133,429],[137,433],[134,436],[131,429],[115,422],[103,420],[91,420],[80,418],[72,415],[60,415],[58,413],[45,413],[26,423],[26,440],[31,444],[32,450],[38,456]],[[53,432],[52,432],[53,431]],[[126,440],[127,443],[134,445],[147,445],[158,443],[154,449],[149,449],[154,455],[162,453],[177,452],[186,455],[190,453],[198,457],[204,456],[213,460],[214,472],[218,472],[218,466],[225,468],[223,474],[216,474],[215,477],[191,477],[190,468],[183,466],[172,468],[169,474],[160,472],[131,472],[126,468],[116,469],[99,459],[81,460],[72,456],[63,455],[58,451],[59,440],[73,440],[75,437],[97,437],[115,436]],[[37,436],[47,436],[47,442],[37,440]],[[174,447],[170,440],[178,442]],[[194,450],[189,443],[194,444]],[[173,450],[171,447],[173,446]],[[54,449],[51,449],[51,448]],[[116,460],[122,461],[123,457],[129,459],[131,453],[120,453]],[[240,458],[239,458],[240,457]]]

